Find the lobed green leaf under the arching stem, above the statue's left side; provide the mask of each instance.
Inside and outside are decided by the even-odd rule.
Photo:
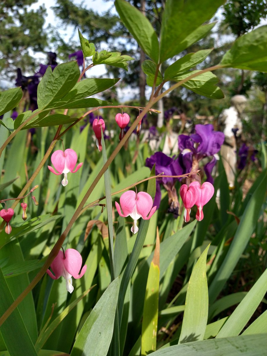
[[[179,82],[180,80],[183,80],[197,72],[199,72],[199,70],[192,70],[185,74],[181,74],[178,75],[177,77],[174,77],[173,80]],[[182,86],[189,90],[194,91],[194,93],[206,96],[207,98],[223,99],[224,93],[216,85],[218,82],[219,79],[218,77],[216,77],[215,74],[211,72],[206,72],[206,73],[199,74],[197,77],[193,79],[189,79],[188,82],[184,83]]]

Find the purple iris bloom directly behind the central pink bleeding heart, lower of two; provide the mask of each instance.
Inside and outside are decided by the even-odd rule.
[[[161,172],[164,172],[166,176],[179,176],[180,174],[182,174],[183,169],[182,167],[180,167],[178,159],[171,158],[165,155],[163,152],[156,152],[150,158],[146,159],[146,166],[150,169],[152,169],[154,164],[156,164],[156,174],[159,174]],[[160,183],[162,183],[164,188],[168,192],[168,200],[170,206],[168,212],[173,213],[176,218],[178,216],[179,209],[178,197],[175,189],[175,182],[177,181],[177,179],[178,178],[169,177],[157,178],[156,195],[153,203],[153,206],[157,205],[157,208],[159,207],[159,203],[161,201]]]

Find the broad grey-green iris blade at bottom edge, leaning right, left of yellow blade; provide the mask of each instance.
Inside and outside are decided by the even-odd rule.
[[[71,356],[108,354],[112,338],[119,278],[114,279],[89,314],[75,341]]]

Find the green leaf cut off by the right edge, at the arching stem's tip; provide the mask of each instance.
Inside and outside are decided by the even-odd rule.
[[[267,72],[267,25],[237,38],[220,64],[224,67]]]

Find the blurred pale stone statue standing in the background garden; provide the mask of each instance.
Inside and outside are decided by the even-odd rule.
[[[236,174],[236,139],[242,133],[241,115],[246,107],[247,99],[244,95],[231,98],[231,106],[219,116],[219,127],[225,135],[221,146],[221,157],[230,188],[235,186]]]

